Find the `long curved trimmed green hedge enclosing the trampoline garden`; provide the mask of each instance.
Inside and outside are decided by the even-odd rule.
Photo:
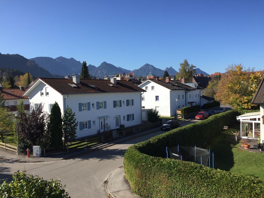
[[[227,111],[183,126],[128,148],[124,155],[125,176],[141,197],[171,198],[177,192],[197,198],[263,197],[264,178],[234,174],[166,158],[166,146],[204,147],[236,121],[237,111]]]

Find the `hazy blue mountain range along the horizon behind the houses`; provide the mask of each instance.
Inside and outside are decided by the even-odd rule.
[[[23,72],[30,72],[35,78],[38,77],[63,77],[68,74],[79,74],[81,71],[82,63],[74,58],[57,57],[55,59],[51,57],[35,57],[26,59],[18,54],[0,54],[0,67],[19,69]],[[127,70],[121,67],[116,67],[110,63],[102,62],[100,66],[88,65],[89,73],[91,76],[99,75],[103,78],[105,75],[115,75],[119,73],[133,72],[134,76],[146,77],[148,74],[156,76],[163,76],[164,71],[167,70],[170,76],[174,76],[178,73],[172,67],[166,67],[164,70],[154,67],[153,65],[146,63],[135,70]],[[196,73],[202,73],[208,75],[206,72],[196,68]]]

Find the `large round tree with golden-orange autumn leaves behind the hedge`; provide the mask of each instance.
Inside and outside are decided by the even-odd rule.
[[[260,72],[250,68],[244,70],[241,64],[229,65],[218,83],[215,99],[233,109],[251,109],[256,106],[250,102],[260,81]]]

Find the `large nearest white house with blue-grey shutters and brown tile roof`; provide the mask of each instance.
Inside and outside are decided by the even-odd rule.
[[[39,78],[26,91],[30,105],[50,112],[57,101],[63,114],[67,105],[75,112],[79,122],[77,137],[94,135],[107,126],[111,129],[141,124],[141,93],[144,90],[115,77],[111,80]]]

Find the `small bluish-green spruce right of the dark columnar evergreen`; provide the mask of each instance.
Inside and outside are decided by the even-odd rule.
[[[78,126],[78,121],[76,122],[75,113],[72,113],[72,109],[67,105],[64,111],[64,116],[62,117],[62,132],[63,132],[63,144],[66,145],[67,142],[72,142],[77,137],[76,130]]]

